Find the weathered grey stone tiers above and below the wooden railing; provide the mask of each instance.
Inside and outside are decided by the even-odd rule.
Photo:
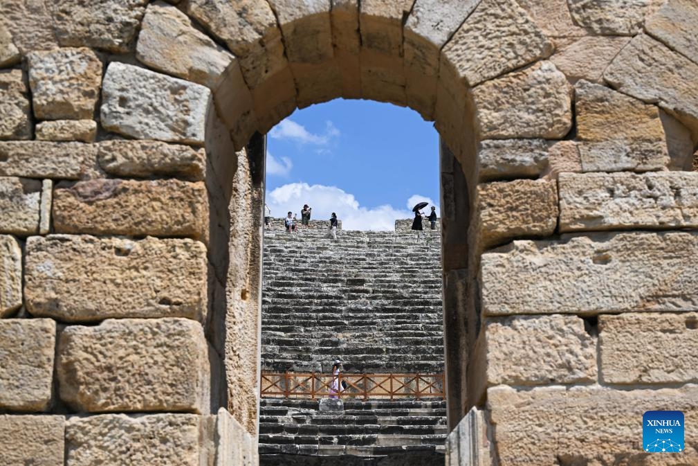
[[[443,372],[440,231],[266,230],[263,276],[262,370]],[[446,435],[440,398],[260,407],[266,466],[438,465]]]

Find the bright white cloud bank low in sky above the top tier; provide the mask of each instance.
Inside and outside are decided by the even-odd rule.
[[[410,197],[411,202],[415,196]],[[428,198],[419,196],[419,200]],[[322,184],[290,183],[267,193],[267,205],[273,217],[285,217],[289,210],[298,214],[304,204],[313,207],[313,219],[329,219],[332,212],[342,221],[345,230],[387,230],[392,231],[396,219],[413,217],[409,209],[396,209],[392,205],[363,207],[352,195],[334,186]],[[419,201],[417,201],[419,202]]]

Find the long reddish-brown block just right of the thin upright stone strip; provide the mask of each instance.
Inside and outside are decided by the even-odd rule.
[[[53,192],[56,233],[199,239],[208,209],[204,182],[87,180]]]

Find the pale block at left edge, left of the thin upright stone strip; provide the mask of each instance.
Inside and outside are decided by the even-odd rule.
[[[40,196],[41,182],[38,180],[0,177],[0,232],[36,234]]]

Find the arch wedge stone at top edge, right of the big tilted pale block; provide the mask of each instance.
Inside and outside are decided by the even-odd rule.
[[[235,54],[251,89],[288,66],[281,29],[267,1],[191,0],[187,13]]]

